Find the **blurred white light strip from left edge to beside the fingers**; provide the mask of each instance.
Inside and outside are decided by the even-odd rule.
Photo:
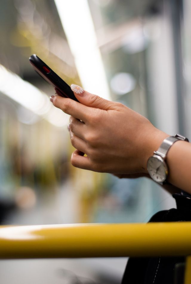
[[[0,78],[0,92],[55,126],[67,125],[68,115],[56,109],[45,93],[24,81],[15,73],[10,72],[1,64]]]

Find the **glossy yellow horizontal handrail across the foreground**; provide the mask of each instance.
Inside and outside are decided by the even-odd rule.
[[[0,258],[191,255],[191,222],[0,226]]]

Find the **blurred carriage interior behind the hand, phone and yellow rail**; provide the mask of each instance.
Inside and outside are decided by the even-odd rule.
[[[191,139],[190,13],[189,0],[1,0],[1,224],[142,223],[175,207],[145,178],[71,166],[69,116],[52,106],[54,90],[28,58]],[[7,260],[0,281],[119,284],[126,262]]]

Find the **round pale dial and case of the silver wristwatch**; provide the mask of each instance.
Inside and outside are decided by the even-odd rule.
[[[153,155],[148,159],[147,170],[155,182],[164,182],[167,178],[168,168],[160,156]]]

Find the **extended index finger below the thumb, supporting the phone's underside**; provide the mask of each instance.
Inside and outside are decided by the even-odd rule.
[[[82,120],[83,122],[87,122],[88,120],[88,109],[89,107],[81,104],[80,102],[76,102],[72,99],[63,98],[61,96],[51,96],[51,102],[56,108],[60,108],[66,114],[70,114],[71,116]]]

